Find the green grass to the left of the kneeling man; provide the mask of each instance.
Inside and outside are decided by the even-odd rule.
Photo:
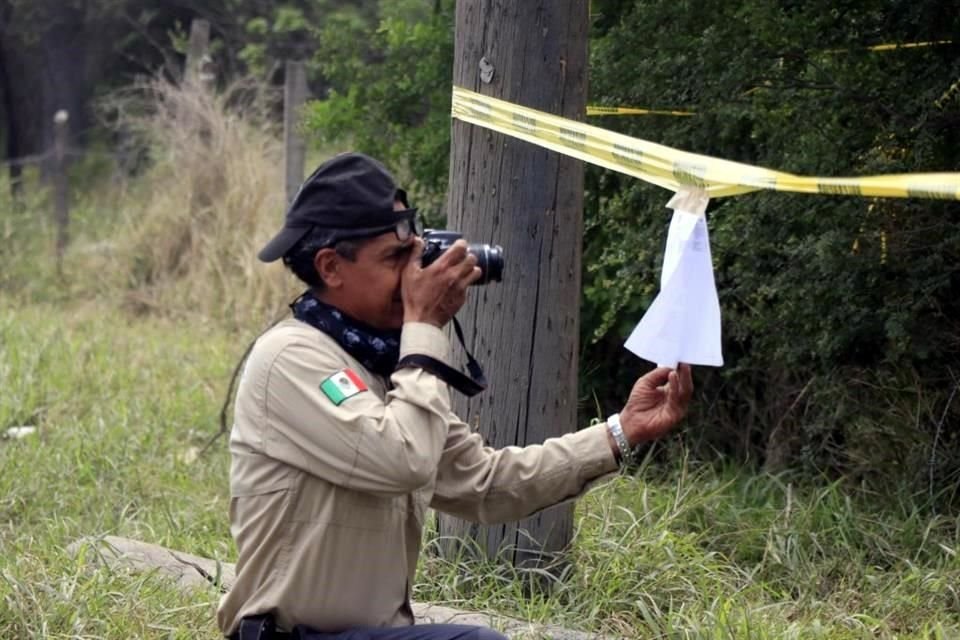
[[[214,637],[214,594],[90,571],[65,547],[123,535],[227,557],[228,455],[188,464],[217,427],[235,345],[94,308],[0,312],[0,637]]]

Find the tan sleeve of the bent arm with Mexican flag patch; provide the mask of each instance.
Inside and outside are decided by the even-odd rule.
[[[404,325],[401,357],[443,359],[448,349],[436,327]],[[429,484],[447,439],[446,385],[421,369],[401,369],[384,400],[351,390],[337,403],[321,384],[344,368],[342,354],[305,340],[274,354],[263,390],[266,455],[357,491],[402,494]]]

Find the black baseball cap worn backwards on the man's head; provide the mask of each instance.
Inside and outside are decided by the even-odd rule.
[[[300,185],[283,228],[257,257],[263,262],[282,258],[316,227],[337,231],[344,238],[389,231],[416,213],[410,208],[394,211],[395,200],[409,207],[406,193],[397,189],[382,164],[362,153],[334,156]]]

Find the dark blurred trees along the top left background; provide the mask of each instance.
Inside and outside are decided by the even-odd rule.
[[[349,5],[349,6],[348,6]],[[271,79],[286,58],[307,59],[331,12],[366,16],[374,0],[0,0],[0,132],[5,156],[42,154],[53,114],[70,113],[71,143],[94,130],[94,98],[135,76],[179,78],[194,18],[211,23],[221,76]],[[346,8],[345,8],[346,7]],[[11,168],[14,183],[19,168]]]

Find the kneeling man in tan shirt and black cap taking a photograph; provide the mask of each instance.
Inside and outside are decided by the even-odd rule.
[[[415,214],[380,163],[343,154],[304,182],[260,252],[282,258],[309,289],[293,318],[257,340],[237,389],[230,519],[239,557],[218,612],[228,637],[503,638],[414,625],[427,509],[483,523],[529,516],[580,495],[686,412],[689,367],[656,369],[607,425],[485,447],[452,413],[447,384],[410,364],[449,362],[443,327],[481,277],[462,240],[424,268]]]

